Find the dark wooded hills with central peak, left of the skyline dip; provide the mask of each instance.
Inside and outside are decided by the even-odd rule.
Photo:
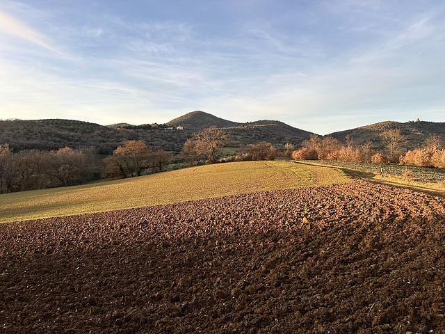
[[[183,131],[168,129],[181,125]],[[200,129],[216,125],[232,136],[232,147],[268,141],[280,146],[300,145],[311,132],[296,129],[279,121],[259,120],[238,123],[203,111],[193,111],[165,125],[103,126],[79,120],[0,120],[0,145],[8,143],[15,152],[21,150],[58,150],[59,148],[96,148],[100,154],[112,154],[124,141],[143,140],[154,148],[180,152],[188,138]]]

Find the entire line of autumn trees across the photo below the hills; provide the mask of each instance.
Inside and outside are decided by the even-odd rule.
[[[214,164],[224,161],[273,160],[286,155],[296,160],[332,160],[351,162],[387,162],[445,168],[445,150],[442,137],[432,135],[424,145],[403,154],[405,137],[400,130],[381,134],[385,152],[371,149],[371,143],[356,145],[352,138],[346,143],[327,136],[312,135],[295,150],[292,143],[280,152],[271,143],[262,141],[238,148],[230,157],[223,157],[221,149],[230,140],[229,135],[215,126],[193,134],[184,143],[179,156],[161,148],[152,148],[143,140],[129,140],[102,159],[95,148],[58,150],[22,150],[13,152],[8,144],[0,145],[0,193],[44,189],[56,186],[83,184],[100,178],[125,178],[158,173],[175,160],[188,166]]]

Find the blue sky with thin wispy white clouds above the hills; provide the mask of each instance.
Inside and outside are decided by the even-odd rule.
[[[0,2],[0,118],[445,121],[445,2]]]

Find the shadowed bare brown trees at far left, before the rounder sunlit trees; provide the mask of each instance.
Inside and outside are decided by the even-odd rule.
[[[0,193],[70,186],[100,175],[92,149],[22,150],[0,145]]]

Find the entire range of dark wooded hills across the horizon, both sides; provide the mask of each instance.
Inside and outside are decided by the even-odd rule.
[[[117,123],[103,126],[79,120],[0,120],[0,145],[8,143],[15,152],[20,150],[57,150],[65,146],[70,148],[96,148],[100,154],[112,154],[113,150],[124,141],[143,140],[154,148],[163,148],[170,152],[180,152],[188,138],[200,129],[216,125],[232,138],[229,146],[270,142],[277,148],[286,143],[293,143],[298,148],[302,141],[313,134],[296,127],[291,127],[277,120],[257,120],[254,122],[232,122],[205,113],[193,111],[163,125],[129,125]],[[171,127],[184,127],[183,131]],[[170,127],[170,129],[169,129]],[[445,138],[445,122],[378,122],[373,125],[357,127],[326,136],[346,141],[346,136],[355,143],[371,142],[372,148],[380,150],[383,143],[380,134],[388,129],[400,129],[406,136],[405,148],[418,148],[431,134]]]

